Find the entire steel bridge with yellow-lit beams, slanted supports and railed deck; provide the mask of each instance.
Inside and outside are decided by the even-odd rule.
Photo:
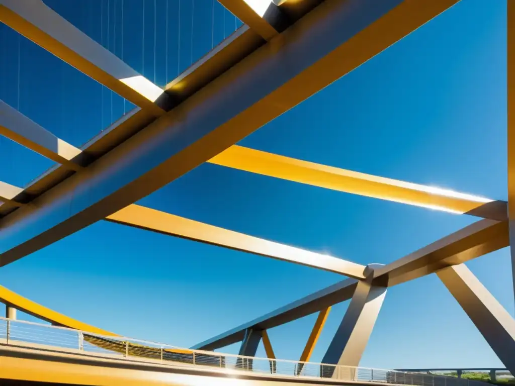
[[[342,280],[191,348],[119,337],[0,287],[0,301],[7,306],[7,318],[2,319],[2,376],[15,381],[77,384],[119,384],[116,382],[122,379],[133,382],[130,384],[142,380],[184,384],[177,375],[181,372],[188,377],[205,376],[205,372],[216,377],[213,372],[229,369],[239,372],[236,378],[250,377],[249,384],[284,381],[281,377],[293,377],[301,384],[316,378],[321,384],[425,385],[424,377],[430,377],[433,385],[473,383],[359,367],[388,289],[430,274],[438,276],[506,369],[515,374],[515,321],[466,266],[472,259],[508,247],[515,237],[511,226],[515,224],[515,205],[510,205],[515,200],[515,1],[507,2],[508,202],[237,145],[270,120],[423,28],[458,0],[219,2],[243,25],[160,87],[44,2],[0,0],[2,23],[135,106],[79,148],[0,101],[0,135],[55,162],[27,186],[0,182],[0,267],[90,224],[108,221],[334,272],[342,275]],[[134,204],[203,163],[478,220],[387,265],[361,265]],[[311,363],[331,307],[346,301],[350,301],[349,307],[322,363]],[[11,328],[36,327],[17,321],[16,310],[52,323],[54,327],[38,325],[37,329],[46,328],[47,334],[59,331],[71,339],[72,347],[56,348],[59,345],[44,343],[44,339],[20,339]],[[314,313],[318,317],[299,361],[277,359],[267,330]],[[238,342],[237,356],[214,352]],[[267,358],[255,358],[260,342]],[[49,356],[53,357],[52,366],[48,365]],[[142,358],[148,362],[144,369]],[[164,370],[163,363],[168,360],[174,363],[166,364]],[[106,361],[114,362],[107,366]],[[70,366],[90,368],[76,371],[79,367]],[[116,375],[89,377],[95,366],[115,369]],[[175,375],[163,375],[170,372]],[[265,376],[271,378],[260,378]],[[415,377],[422,378],[416,381]]]

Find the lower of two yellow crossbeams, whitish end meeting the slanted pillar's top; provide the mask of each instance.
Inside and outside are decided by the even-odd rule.
[[[129,205],[108,216],[107,221],[134,226],[147,231],[219,245],[237,251],[295,262],[358,279],[364,278],[365,266],[337,257],[306,251],[278,242],[229,231],[214,225],[160,212],[140,205]]]

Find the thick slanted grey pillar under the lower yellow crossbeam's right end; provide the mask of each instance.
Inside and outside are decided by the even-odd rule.
[[[370,265],[369,271],[373,271],[376,265]],[[378,265],[379,266],[379,265]],[[337,364],[344,366],[358,366],[365,351],[368,339],[374,328],[377,315],[381,310],[386,295],[386,286],[383,283],[372,282],[373,273],[367,275],[367,279],[357,284],[352,295],[349,308],[336,330],[322,363]],[[341,370],[344,370],[342,368]],[[335,371],[321,369],[321,376],[324,378],[335,378],[355,380],[354,374],[347,374],[351,369]]]

